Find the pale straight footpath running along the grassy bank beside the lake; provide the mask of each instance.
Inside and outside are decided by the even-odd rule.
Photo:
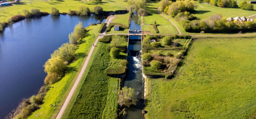
[[[101,39],[103,36],[104,35],[102,35],[102,34],[98,35],[97,40],[94,42],[94,45],[97,45],[98,39]],[[68,103],[71,100],[71,97],[73,96],[73,94],[74,94],[74,92],[75,92],[75,90],[76,90],[76,88],[77,88],[77,86],[78,86],[78,84],[79,84],[79,82],[82,78],[82,75],[84,74],[84,71],[85,71],[85,69],[88,65],[88,62],[90,61],[90,57],[92,56],[93,50],[94,50],[94,46],[92,46],[92,48],[90,49],[90,52],[89,52],[88,56],[86,57],[86,61],[84,63],[84,66],[82,66],[82,70],[80,71],[79,76],[77,77],[75,84],[73,85],[71,91],[69,92],[68,97],[65,100],[64,104],[62,105],[62,107],[60,109],[60,112],[57,114],[57,117],[56,117],[57,119],[61,118],[65,109],[67,108]]]

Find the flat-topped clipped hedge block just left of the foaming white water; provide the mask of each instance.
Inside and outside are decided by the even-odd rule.
[[[118,77],[118,75],[123,75],[127,70],[125,66],[115,66],[110,67],[105,70],[105,74],[112,77]]]

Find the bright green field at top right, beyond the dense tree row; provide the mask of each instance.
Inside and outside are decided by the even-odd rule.
[[[193,12],[193,14],[198,19],[207,19],[209,16],[216,15],[216,14],[222,14],[225,18],[235,18],[236,16],[251,16],[256,14],[256,12],[249,11],[249,10],[242,10],[241,8],[221,8],[216,6],[211,6],[205,3],[199,3],[198,8],[196,8],[196,12]]]

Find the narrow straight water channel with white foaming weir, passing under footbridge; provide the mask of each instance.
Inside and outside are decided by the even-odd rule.
[[[139,17],[137,14],[132,15],[132,21],[130,24],[131,30],[140,30],[141,25],[138,24]],[[123,79],[123,86],[128,88],[134,88],[136,92],[137,99],[139,100],[135,106],[126,107],[127,110],[127,119],[143,119],[142,110],[144,107],[143,99],[143,76],[142,76],[142,66],[141,58],[138,57],[139,51],[141,48],[141,36],[129,36],[129,57],[127,61],[129,62],[128,71],[126,77]]]

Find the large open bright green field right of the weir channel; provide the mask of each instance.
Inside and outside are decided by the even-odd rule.
[[[256,39],[199,39],[175,78],[148,79],[148,118],[250,118]]]

